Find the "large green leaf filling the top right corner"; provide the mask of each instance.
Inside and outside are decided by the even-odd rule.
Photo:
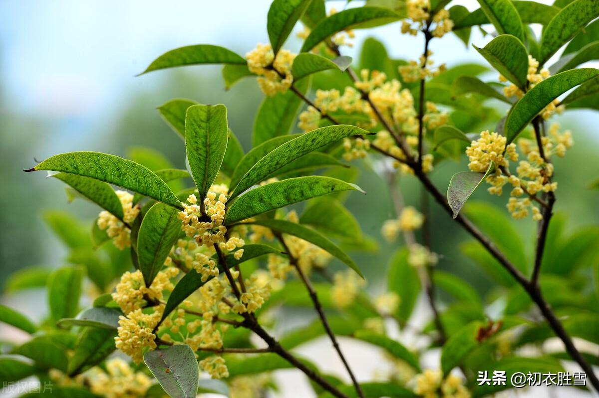
[[[580,28],[599,16],[599,2],[576,0],[562,8],[543,29],[540,65],[574,37]]]

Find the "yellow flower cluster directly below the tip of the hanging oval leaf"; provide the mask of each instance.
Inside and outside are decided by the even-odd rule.
[[[171,283],[171,278],[176,277],[177,274],[179,274],[177,268],[166,268],[156,275],[150,287],[146,287],[144,276],[140,270],[133,273],[127,271],[120,277],[120,281],[116,285],[116,292],[112,293],[112,298],[119,304],[124,314],[129,314],[143,307],[144,296],[153,301],[159,301],[162,299],[164,290],[172,291],[174,285]]]

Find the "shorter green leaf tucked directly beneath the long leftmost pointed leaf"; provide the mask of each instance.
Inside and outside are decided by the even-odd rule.
[[[53,177],[58,178],[62,182],[70,185],[75,191],[79,192],[84,197],[98,204],[102,209],[107,210],[116,218],[123,219],[123,205],[120,203],[119,197],[114,193],[105,182],[77,174],[58,173]]]

